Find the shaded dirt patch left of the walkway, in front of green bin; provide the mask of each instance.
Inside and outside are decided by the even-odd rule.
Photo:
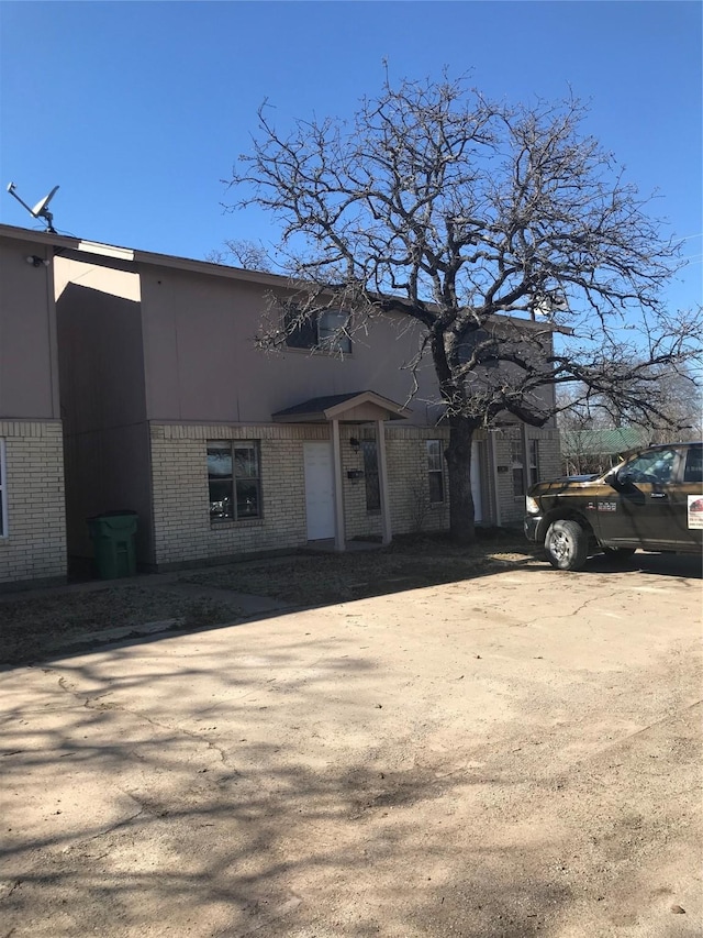
[[[176,628],[236,621],[238,606],[183,597],[166,589],[113,586],[88,592],[5,599],[0,604],[0,664],[36,659],[52,645],[123,626],[174,619]]]

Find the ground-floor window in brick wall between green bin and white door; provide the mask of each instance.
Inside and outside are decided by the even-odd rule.
[[[252,440],[208,441],[210,519],[261,517],[259,444]]]

